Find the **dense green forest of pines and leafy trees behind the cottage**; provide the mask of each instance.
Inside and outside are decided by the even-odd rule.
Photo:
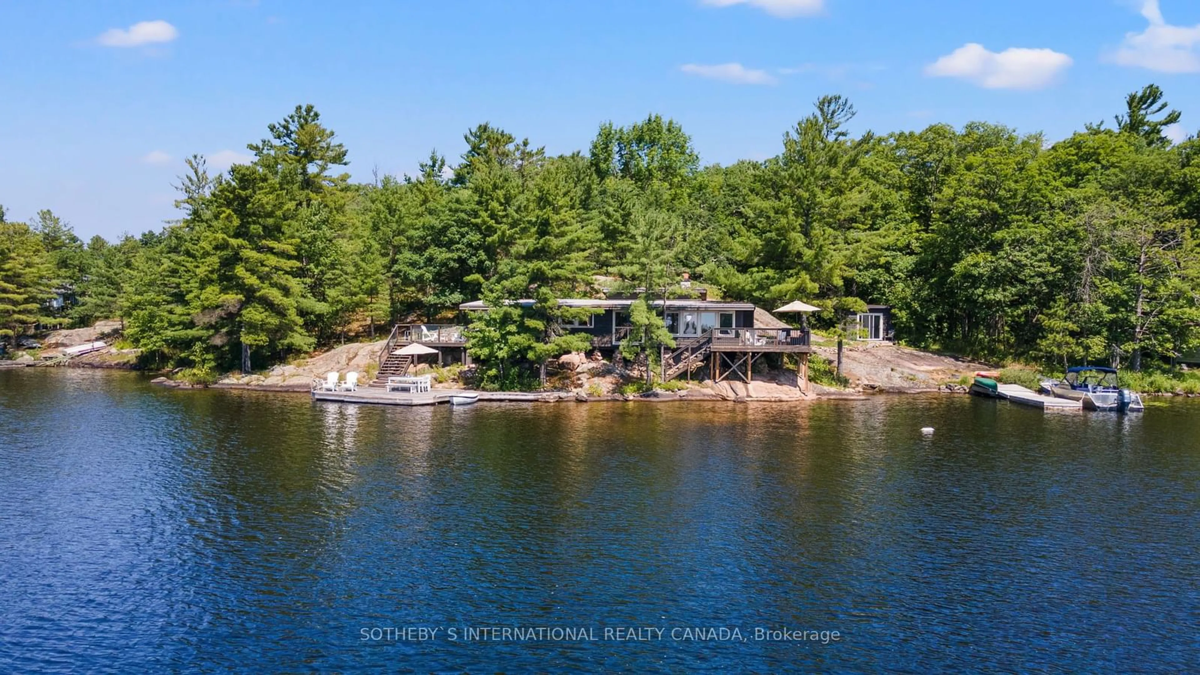
[[[248,370],[482,298],[498,310],[472,348],[511,387],[583,346],[560,324],[586,310],[557,298],[594,297],[596,275],[652,295],[686,271],[725,298],[827,307],[830,329],[888,304],[899,339],[974,357],[1140,370],[1200,342],[1200,141],[1166,138],[1180,113],[1157,86],[1054,144],[985,123],[856,137],[853,117],[822,97],[776,156],[731,166],[702,166],[659,115],[559,156],[482,124],[457,161],[356,184],[298,106],[251,163],[192,156],[161,231],[83,243],[50,211],[0,209],[0,335],[120,318],[160,365]]]

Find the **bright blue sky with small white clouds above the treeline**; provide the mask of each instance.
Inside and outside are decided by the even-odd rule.
[[[227,165],[296,103],[356,180],[454,160],[481,121],[554,154],[649,112],[706,163],[764,159],[829,92],[856,131],[1054,141],[1154,82],[1200,130],[1195,0],[7,0],[0,25],[0,204],[109,239],[178,217],[184,156]]]

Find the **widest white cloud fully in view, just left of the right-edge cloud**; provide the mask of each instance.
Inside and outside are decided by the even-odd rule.
[[[986,89],[1042,89],[1073,62],[1052,49],[1012,47],[997,53],[970,42],[925,66],[925,74],[958,77]]]

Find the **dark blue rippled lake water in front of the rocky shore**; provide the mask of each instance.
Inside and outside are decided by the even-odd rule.
[[[0,371],[0,671],[1186,671],[1198,420]]]

